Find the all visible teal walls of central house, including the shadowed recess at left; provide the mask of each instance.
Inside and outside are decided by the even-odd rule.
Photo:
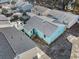
[[[65,25],[58,25],[57,29],[50,36],[46,36],[37,28],[33,28],[29,31],[26,28],[24,28],[25,33],[27,33],[29,37],[31,37],[32,35],[37,35],[38,37],[43,39],[47,44],[51,44],[52,42],[54,42],[61,34],[64,33],[65,30]]]

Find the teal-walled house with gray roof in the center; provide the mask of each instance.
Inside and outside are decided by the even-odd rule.
[[[65,25],[43,21],[43,19],[34,16],[27,21],[23,30],[30,37],[36,35],[47,44],[50,44],[56,40],[66,28]]]

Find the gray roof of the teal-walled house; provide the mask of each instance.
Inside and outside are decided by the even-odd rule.
[[[57,26],[49,22],[43,22],[41,18],[36,16],[32,17],[24,26],[27,30],[32,30],[33,28],[40,30],[45,35],[51,35],[56,29]]]

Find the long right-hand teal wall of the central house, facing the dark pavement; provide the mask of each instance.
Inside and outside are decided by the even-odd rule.
[[[66,30],[66,28],[64,26],[59,26],[57,28],[57,30],[55,30],[54,33],[52,33],[49,37],[47,37],[45,39],[45,41],[48,44],[51,44],[52,42],[54,42],[60,35],[62,35],[64,33],[64,31]]]

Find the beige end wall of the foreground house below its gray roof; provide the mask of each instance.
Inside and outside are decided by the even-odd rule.
[[[19,55],[20,57],[15,59],[51,59],[38,47],[35,47],[29,51],[26,51]]]

